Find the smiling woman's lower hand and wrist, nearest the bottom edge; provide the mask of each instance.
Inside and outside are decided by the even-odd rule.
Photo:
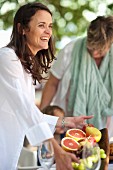
[[[80,162],[76,155],[64,151],[55,139],[52,139],[52,143],[55,152],[56,170],[73,170],[72,162]]]

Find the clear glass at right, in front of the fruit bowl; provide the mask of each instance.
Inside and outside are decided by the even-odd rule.
[[[82,160],[86,170],[99,170],[101,166],[99,145],[86,142],[83,146]]]

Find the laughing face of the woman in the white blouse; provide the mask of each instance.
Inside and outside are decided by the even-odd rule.
[[[24,30],[27,45],[35,55],[39,50],[48,49],[52,35],[52,16],[45,10],[38,10],[29,22],[29,30]]]

